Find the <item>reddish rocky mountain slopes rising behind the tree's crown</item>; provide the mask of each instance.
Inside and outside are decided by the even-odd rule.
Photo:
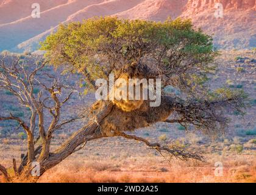
[[[164,21],[191,18],[214,35],[222,49],[256,47],[256,0],[37,0],[40,18],[32,18],[34,0],[0,0],[0,51],[34,51],[59,23],[93,16]],[[221,3],[223,17],[216,18]]]

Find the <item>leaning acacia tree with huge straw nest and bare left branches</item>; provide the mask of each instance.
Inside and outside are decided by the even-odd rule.
[[[23,168],[17,174],[21,178],[30,176],[31,161],[40,163],[42,175],[84,147],[88,141],[103,137],[119,136],[142,141],[162,155],[168,154],[181,160],[204,160],[194,152],[150,143],[126,132],[148,127],[156,122],[169,122],[179,123],[187,130],[190,129],[189,126],[193,126],[207,135],[218,136],[227,128],[227,111],[243,112],[246,99],[243,92],[225,88],[209,90],[207,81],[209,76],[215,73],[216,66],[213,62],[218,52],[213,48],[212,38],[202,30],[195,29],[190,20],[168,19],[164,23],[156,23],[113,17],[87,19],[82,23],[60,25],[59,30],[49,35],[41,45],[41,49],[46,51],[45,62],[56,68],[62,67],[64,73],[82,74],[90,90],[98,88],[96,79],[107,78],[114,73],[116,78],[162,79],[163,93],[160,106],[150,107],[150,102],[144,100],[138,107],[129,111],[125,108],[132,107],[136,101],[96,101],[90,107],[88,123],[74,132],[57,149],[50,151],[52,133],[59,127],[57,115],[60,112],[60,101],[54,96],[55,87],[44,85],[44,89],[51,94],[55,102],[55,106],[50,108],[53,121],[47,130],[42,123],[38,124],[39,135],[43,139],[38,146],[40,148],[34,148],[33,135],[27,137],[27,142],[30,143],[27,154],[29,158],[21,163]],[[40,67],[43,65],[44,63]],[[30,79],[34,79],[36,70],[29,76]],[[8,79],[12,76],[11,73],[13,74],[8,69],[1,75]],[[6,80],[4,82],[6,83]],[[16,87],[8,80],[7,83],[9,90]],[[26,87],[26,83],[21,82],[21,85]],[[28,85],[32,88],[33,82],[28,82]],[[165,88],[168,86],[176,88],[180,94],[167,93]],[[6,88],[6,84],[2,87]],[[24,93],[32,113],[42,121],[43,109],[48,108],[43,106],[40,95],[35,99],[26,88]],[[20,96],[18,93],[15,95],[18,98]],[[12,115],[1,119],[17,120]],[[20,119],[18,121],[24,126],[25,122]],[[61,124],[63,123],[65,124]],[[33,129],[33,126],[25,127],[31,128]],[[26,132],[30,135],[32,130]],[[0,167],[5,177],[10,180],[6,169]]]

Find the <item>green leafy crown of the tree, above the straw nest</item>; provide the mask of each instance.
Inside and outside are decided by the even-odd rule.
[[[193,27],[190,19],[161,23],[110,16],[60,24],[59,30],[41,43],[41,50],[52,65],[65,65],[63,73],[84,74],[87,87],[141,57],[157,59],[158,67],[168,71],[192,64],[190,73],[179,75],[183,82],[176,87],[181,90],[185,87],[180,85],[191,90],[204,85],[207,74],[215,71],[210,62],[218,55],[212,37]],[[176,67],[171,68],[174,62]]]

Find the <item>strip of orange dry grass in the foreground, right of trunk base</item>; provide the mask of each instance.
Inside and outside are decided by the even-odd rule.
[[[143,166],[143,171],[136,170],[136,168],[134,171],[129,171],[126,167],[113,170],[113,163],[84,165],[79,169],[66,169],[66,166],[63,165],[47,172],[39,182],[256,182],[255,162],[241,165],[243,162],[239,160],[226,161],[224,162],[223,176],[215,176],[214,166],[192,164],[191,162],[174,161],[171,165],[166,165],[168,171],[161,171],[160,168],[152,170],[146,165]]]

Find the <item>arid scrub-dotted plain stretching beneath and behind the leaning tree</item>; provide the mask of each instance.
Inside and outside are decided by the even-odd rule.
[[[205,156],[205,162],[166,160],[143,143],[104,138],[88,142],[84,149],[46,172],[39,182],[256,182],[255,60],[256,51],[249,50],[221,51],[221,56],[216,59],[219,70],[210,82],[212,88],[225,85],[243,89],[249,94],[251,102],[246,115],[230,113],[226,135],[213,140],[195,132],[185,132],[181,126],[165,123],[133,132],[152,141],[172,141],[190,146],[191,151]],[[88,96],[88,101],[83,104],[93,101],[93,95]],[[5,91],[0,91],[0,97],[1,113],[18,107],[13,96]],[[69,104],[67,115],[74,110],[72,101]],[[26,113],[23,115],[26,116]],[[12,133],[7,133],[6,129],[11,129]],[[54,135],[54,146],[68,138],[76,127],[70,129],[69,132],[59,131]],[[20,161],[26,140],[12,124],[1,123],[0,132],[0,163],[10,167],[12,158]],[[218,171],[221,165],[222,174]],[[13,174],[12,168],[9,173]]]

